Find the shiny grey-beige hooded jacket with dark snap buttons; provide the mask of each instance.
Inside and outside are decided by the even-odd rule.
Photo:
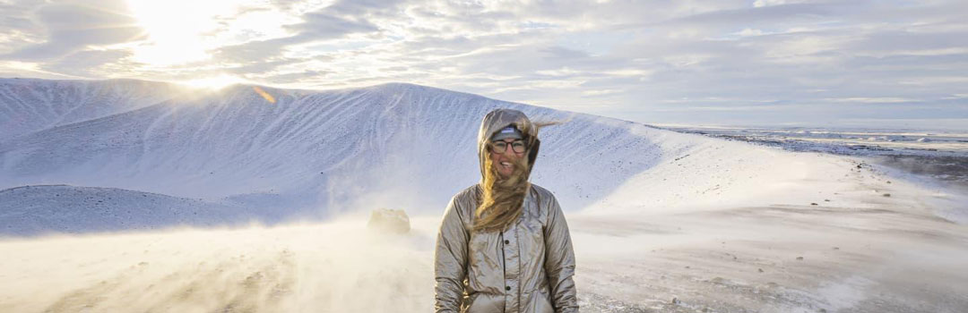
[[[482,178],[487,142],[510,125],[521,130],[529,144],[530,175],[540,146],[538,129],[524,113],[498,109],[484,117],[477,135]],[[458,192],[443,214],[434,254],[435,311],[578,312],[572,279],[575,253],[555,196],[531,185],[514,224],[501,232],[474,232],[481,185]]]

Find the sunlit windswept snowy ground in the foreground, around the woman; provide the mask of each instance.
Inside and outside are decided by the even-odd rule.
[[[825,166],[846,176],[804,171],[773,205],[568,213],[583,312],[963,312],[968,227],[931,209],[954,195],[862,161]],[[622,192],[612,202],[643,196]],[[405,236],[365,225],[13,238],[0,242],[0,279],[16,282],[0,285],[0,311],[430,311],[439,216],[413,217]]]

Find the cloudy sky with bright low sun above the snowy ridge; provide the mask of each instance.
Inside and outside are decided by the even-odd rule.
[[[968,130],[968,1],[0,0],[0,76],[406,82],[653,125]]]

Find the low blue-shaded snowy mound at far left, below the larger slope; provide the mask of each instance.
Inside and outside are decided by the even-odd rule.
[[[272,214],[198,199],[117,188],[29,185],[0,190],[0,235],[148,231],[241,225]],[[272,219],[270,219],[271,221]]]

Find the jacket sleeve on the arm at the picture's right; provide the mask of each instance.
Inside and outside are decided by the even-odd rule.
[[[556,313],[578,312],[578,298],[576,297],[575,282],[575,251],[571,247],[571,235],[568,223],[564,221],[564,213],[558,200],[552,197],[548,209],[548,223],[544,229],[545,237],[545,272],[548,273],[548,285],[551,287],[552,304]]]

